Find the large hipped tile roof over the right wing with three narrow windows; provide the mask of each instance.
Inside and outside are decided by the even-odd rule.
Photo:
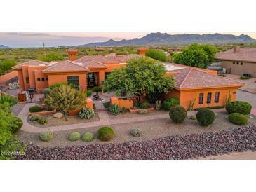
[[[175,88],[178,89],[243,86],[243,83],[190,67],[177,69],[176,72]]]

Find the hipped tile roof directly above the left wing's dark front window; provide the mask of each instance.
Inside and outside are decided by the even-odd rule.
[[[87,67],[83,67],[76,62],[72,61],[63,61],[53,64],[50,67],[47,67],[43,70],[45,73],[51,73],[51,72],[67,72],[67,71],[90,71]]]

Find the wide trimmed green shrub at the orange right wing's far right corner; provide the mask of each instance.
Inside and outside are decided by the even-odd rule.
[[[226,105],[226,111],[228,114],[238,113],[248,115],[251,110],[252,106],[248,102],[234,101],[228,102]]]

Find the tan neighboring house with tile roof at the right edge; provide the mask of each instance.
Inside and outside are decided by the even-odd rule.
[[[256,77],[256,48],[234,47],[223,53],[218,53],[215,59],[220,60],[228,74],[250,74]]]

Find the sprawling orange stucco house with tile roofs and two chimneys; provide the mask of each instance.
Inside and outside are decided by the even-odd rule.
[[[144,56],[147,49],[140,49]],[[114,69],[126,66],[130,58],[140,55],[96,55],[84,56],[76,60],[79,51],[69,49],[69,60],[55,63],[32,60],[13,67],[18,71],[20,89],[43,89],[55,83],[68,82],[77,85],[80,90],[100,86],[101,82]],[[175,88],[165,97],[176,97],[180,104],[189,109],[194,103],[195,108],[224,106],[229,97],[236,100],[236,92],[243,83],[229,78],[217,76],[217,71],[188,67],[182,64],[162,63],[166,68],[166,76],[173,76]]]

